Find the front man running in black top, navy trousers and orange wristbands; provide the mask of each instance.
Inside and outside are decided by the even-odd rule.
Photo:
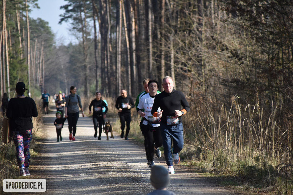
[[[183,148],[183,125],[181,116],[190,111],[187,100],[182,92],[173,89],[172,77],[163,78],[164,91],[156,95],[151,114],[161,118],[161,136],[163,139],[164,154],[169,168],[169,174],[174,174],[173,160],[175,164],[180,161],[179,152]],[[183,109],[181,110],[181,106]],[[157,112],[158,108],[160,112]],[[173,139],[173,155],[171,145]]]

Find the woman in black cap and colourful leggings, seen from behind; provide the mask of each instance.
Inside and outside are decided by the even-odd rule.
[[[20,176],[30,175],[28,167],[30,166],[30,142],[33,129],[32,117],[38,116],[35,101],[32,98],[25,97],[25,90],[27,89],[23,82],[16,84],[17,96],[9,100],[6,111],[6,116],[10,118],[10,128],[13,131],[13,142]]]

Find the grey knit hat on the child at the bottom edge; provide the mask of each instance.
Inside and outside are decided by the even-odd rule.
[[[168,170],[161,165],[155,165],[151,168],[151,185],[155,189],[164,189],[170,184]]]

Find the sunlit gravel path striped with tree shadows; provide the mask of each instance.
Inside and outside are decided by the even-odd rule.
[[[40,194],[118,195],[153,191],[142,144],[131,138],[121,139],[117,133],[109,141],[102,133],[98,141],[93,137],[93,123],[88,117],[79,117],[77,141],[69,141],[66,121],[62,129],[63,141],[56,143],[54,119],[54,114],[44,115],[44,127],[38,134],[45,138],[35,143],[40,156],[34,157],[30,166],[30,178],[47,180],[47,191]],[[166,166],[163,156],[155,157],[155,163]],[[183,165],[176,165],[175,174],[170,177],[168,190],[176,194],[235,194]]]

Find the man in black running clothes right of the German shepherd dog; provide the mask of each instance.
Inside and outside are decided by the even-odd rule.
[[[124,129],[126,122],[126,134],[125,140],[128,140],[128,134],[130,130],[130,122],[131,122],[131,108],[134,108],[133,99],[130,96],[127,96],[127,91],[125,89],[121,90],[121,96],[116,99],[115,107],[118,110],[120,123],[121,123],[121,135],[120,137],[124,137]]]

